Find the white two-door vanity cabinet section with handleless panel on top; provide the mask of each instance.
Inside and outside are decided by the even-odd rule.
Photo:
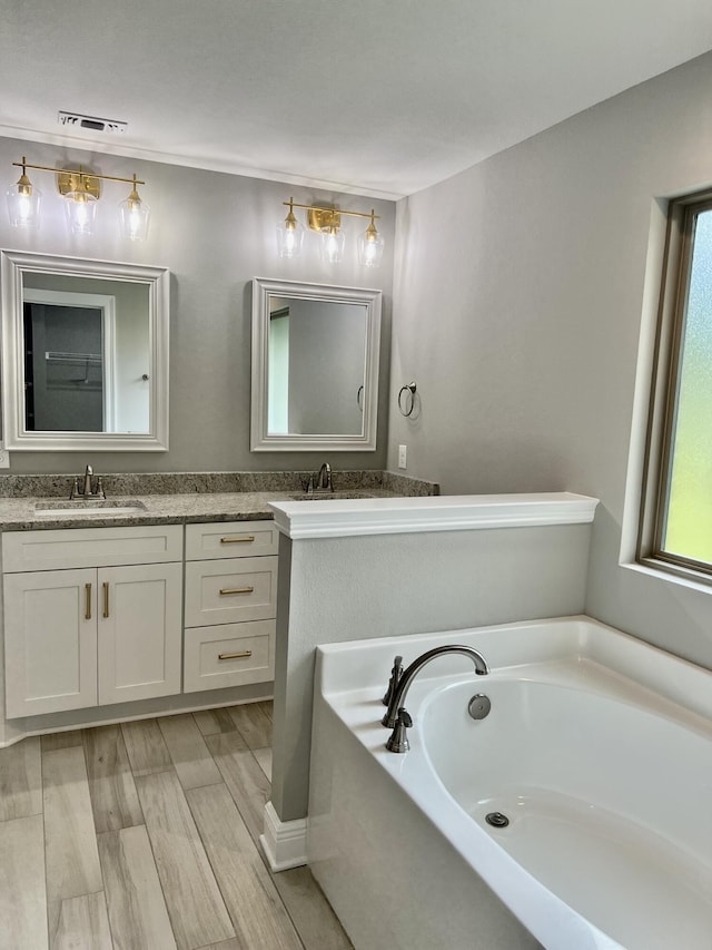
[[[182,527],[2,536],[8,718],[180,692]]]

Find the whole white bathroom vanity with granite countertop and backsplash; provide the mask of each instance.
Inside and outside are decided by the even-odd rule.
[[[67,477],[52,497],[59,477],[6,478],[0,746],[271,696],[270,503],[303,496],[300,473],[107,476],[107,499],[83,503],[67,500]],[[338,478],[334,498],[408,490],[382,473]]]

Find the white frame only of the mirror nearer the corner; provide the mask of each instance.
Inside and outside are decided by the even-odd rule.
[[[364,353],[364,429],[360,435],[319,435],[268,431],[269,298],[270,296],[362,304],[366,306]],[[382,292],[364,287],[306,284],[300,281],[253,281],[253,378],[250,449],[253,452],[373,452],[378,417],[378,354]]]

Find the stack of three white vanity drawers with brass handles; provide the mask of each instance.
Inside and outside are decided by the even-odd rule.
[[[184,692],[274,679],[277,546],[273,521],[186,526]]]

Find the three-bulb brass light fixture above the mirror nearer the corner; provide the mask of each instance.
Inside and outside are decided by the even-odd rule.
[[[370,214],[364,212],[345,212],[340,208],[325,208],[318,205],[300,205],[289,198],[283,202],[289,208],[283,224],[277,226],[277,249],[280,257],[297,257],[301,253],[305,228],[297,221],[295,208],[303,208],[307,213],[307,225],[310,231],[316,231],[322,236],[322,259],[327,264],[338,264],[344,256],[346,238],[342,231],[342,215],[349,217],[369,218],[366,231],[358,239],[358,261],[365,267],[378,267],[383,257],[384,241],[376,227],[378,215],[373,210]]]

